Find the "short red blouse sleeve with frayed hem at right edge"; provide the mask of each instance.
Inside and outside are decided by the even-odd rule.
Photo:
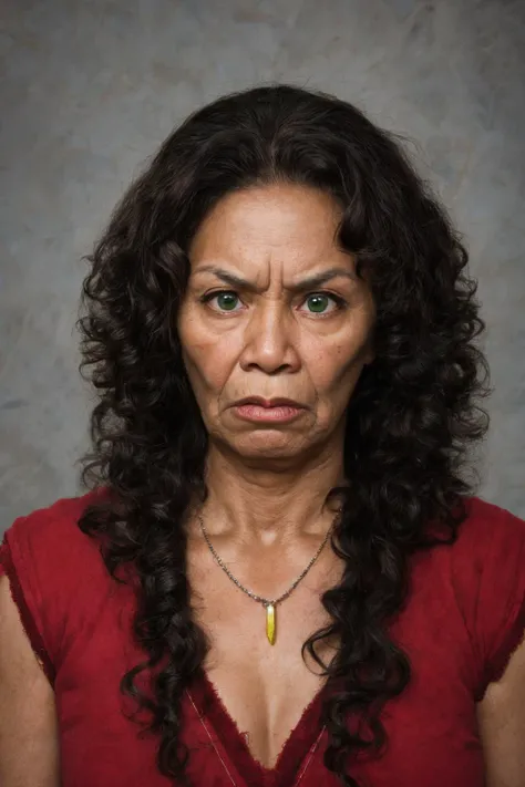
[[[477,581],[471,611],[478,662],[476,702],[497,682],[525,634],[525,521],[484,504],[472,546]]]

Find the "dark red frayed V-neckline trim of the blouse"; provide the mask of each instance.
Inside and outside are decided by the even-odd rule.
[[[272,768],[251,754],[237,723],[224,704],[206,670],[199,670],[192,686],[192,697],[200,713],[213,726],[238,774],[249,787],[291,787],[309,753],[313,753],[322,737],[321,707],[327,690],[325,683],[302,711],[290,731]],[[305,763],[306,765],[306,763]]]

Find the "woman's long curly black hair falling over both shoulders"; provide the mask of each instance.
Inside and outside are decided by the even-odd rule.
[[[320,640],[340,643],[323,665],[333,690],[322,711],[325,763],[357,787],[349,756],[381,753],[381,710],[410,682],[410,661],[388,635],[409,594],[409,556],[455,540],[477,483],[465,473],[467,448],[488,426],[488,369],[475,342],[484,322],[467,251],[401,137],[337,97],[278,84],[222,97],[165,141],[87,258],[81,373],[99,398],[82,481],[112,494],[79,526],[103,541],[113,577],[133,567],[134,635],[147,659],[121,691],[151,714],[161,773],[189,784],[181,701],[208,644],[192,617],[183,521],[194,496],[206,495],[207,434],[182,360],[177,309],[188,246],[207,211],[234,189],[276,182],[337,200],[340,244],[360,276],[367,269],[377,307],[375,360],[348,403],[348,485],[332,490],[343,499],[332,547],[346,569],[322,596],[330,624],[303,644],[316,657]],[[138,673],[159,666],[150,694],[140,691]],[[371,736],[350,732],[350,712]]]

